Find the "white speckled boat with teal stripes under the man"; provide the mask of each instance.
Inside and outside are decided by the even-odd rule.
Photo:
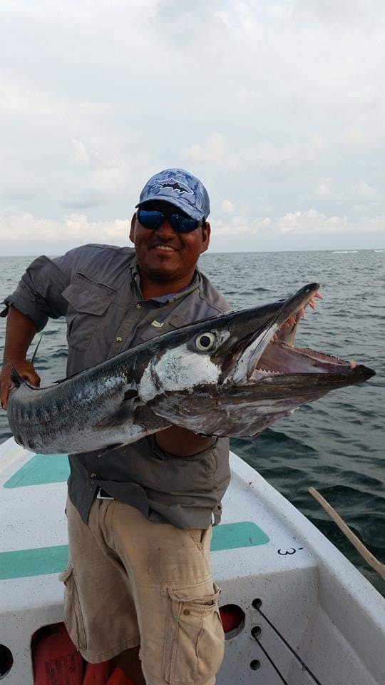
[[[239,457],[212,537],[232,607],[218,685],[384,685],[385,600]],[[31,636],[63,620],[68,460],[0,445],[0,680],[32,685]]]

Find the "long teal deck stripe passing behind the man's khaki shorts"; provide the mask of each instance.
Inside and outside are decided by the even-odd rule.
[[[269,538],[255,523],[226,523],[212,529],[211,551],[267,544]],[[18,549],[0,553],[0,580],[61,573],[68,562],[68,545]]]

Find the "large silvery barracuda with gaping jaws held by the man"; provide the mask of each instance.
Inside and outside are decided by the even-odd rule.
[[[43,454],[135,442],[170,425],[202,435],[257,435],[279,417],[374,371],[294,347],[319,285],[287,300],[222,314],[113,357],[48,387],[14,370],[8,403],[19,445]]]

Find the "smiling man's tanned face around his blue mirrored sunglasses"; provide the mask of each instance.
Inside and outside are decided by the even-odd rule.
[[[146,203],[146,209],[183,212],[168,202]],[[205,223],[190,233],[178,233],[168,220],[153,230],[145,228],[133,215],[130,240],[135,245],[138,266],[154,283],[173,282],[193,278],[199,255],[210,242],[210,224]],[[168,248],[168,249],[165,249]]]

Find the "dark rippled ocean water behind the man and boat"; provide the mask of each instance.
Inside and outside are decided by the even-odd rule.
[[[0,298],[32,257],[0,259]],[[354,359],[376,370],[368,382],[301,407],[259,437],[232,440],[232,450],[282,492],[385,594],[385,584],[308,494],[314,486],[385,562],[385,251],[205,254],[200,269],[234,308],[284,298],[320,283],[324,300],[309,310],[299,345]],[[0,319],[0,353],[5,319]],[[36,364],[42,382],[63,377],[66,327],[46,326]],[[0,442],[11,432],[0,411]]]

